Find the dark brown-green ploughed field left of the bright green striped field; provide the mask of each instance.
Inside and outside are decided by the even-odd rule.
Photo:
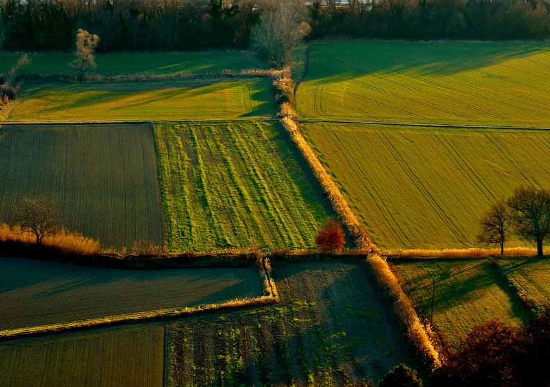
[[[0,221],[15,223],[24,196],[49,198],[65,228],[104,248],[163,245],[150,126],[9,126],[0,150]]]

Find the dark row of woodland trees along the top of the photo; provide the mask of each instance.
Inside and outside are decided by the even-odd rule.
[[[297,5],[310,37],[544,39],[542,0],[0,0],[0,50],[70,51],[83,28],[105,51],[244,47],[267,9]]]

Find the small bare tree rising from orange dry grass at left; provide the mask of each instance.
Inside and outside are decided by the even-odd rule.
[[[46,236],[56,234],[59,230],[58,215],[47,199],[23,198],[15,209],[15,221],[23,232],[36,236],[36,243],[42,244]]]

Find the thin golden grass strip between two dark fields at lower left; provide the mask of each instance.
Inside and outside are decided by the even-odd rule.
[[[206,304],[196,307],[179,307],[169,309],[157,309],[153,311],[144,311],[136,313],[119,314],[115,316],[106,316],[101,318],[90,318],[88,320],[77,320],[70,322],[60,322],[51,325],[38,325],[35,327],[24,327],[16,329],[3,329],[0,331],[0,341],[6,338],[15,338],[22,336],[33,336],[37,334],[48,334],[67,332],[77,329],[87,329],[91,327],[105,327],[108,325],[117,325],[126,322],[151,321],[165,318],[177,318],[181,316],[190,316],[192,314],[205,311],[215,311],[232,309],[235,307],[249,307],[256,304],[267,304],[275,302],[274,295],[260,295],[255,298],[242,298],[240,300],[231,300],[219,304]]]

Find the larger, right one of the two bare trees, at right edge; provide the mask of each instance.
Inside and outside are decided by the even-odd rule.
[[[550,237],[550,191],[535,187],[519,187],[508,199],[515,232],[537,244],[537,255],[544,255],[542,242]]]

